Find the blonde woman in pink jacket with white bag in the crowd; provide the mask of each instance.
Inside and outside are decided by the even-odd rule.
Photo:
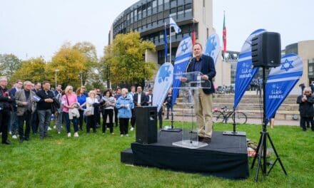
[[[78,101],[76,94],[73,92],[73,87],[71,85],[66,86],[66,90],[64,91],[64,95],[62,96],[62,105],[64,105],[63,113],[66,120],[66,130],[68,132],[68,137],[71,137],[71,127],[70,120],[74,125],[74,137],[78,137]]]

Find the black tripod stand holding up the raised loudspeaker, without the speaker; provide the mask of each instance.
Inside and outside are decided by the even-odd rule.
[[[265,105],[266,105],[266,95],[265,95],[265,67],[263,67],[263,130],[260,132],[260,140],[258,141],[258,148],[256,150],[256,155],[254,157],[254,160],[252,162],[252,166],[250,167],[253,169],[256,159],[258,159],[258,167],[256,169],[255,173],[255,182],[258,182],[258,173],[260,172],[260,167],[262,169],[263,175],[270,174],[271,170],[275,166],[276,162],[278,161],[280,163],[281,169],[283,169],[283,172],[287,175],[287,172],[285,171],[285,167],[283,167],[283,163],[280,160],[280,157],[278,155],[278,152],[275,150],[275,145],[273,145],[273,141],[270,138],[269,133],[267,132],[267,121],[266,121],[266,114],[265,114]],[[269,140],[271,147],[273,147],[273,151],[275,152],[276,159],[273,164],[270,164],[270,162],[267,162],[266,154],[267,154],[267,140]],[[262,162],[263,160],[263,162]],[[263,163],[263,164],[262,164]],[[267,172],[267,164],[270,164],[270,169]]]

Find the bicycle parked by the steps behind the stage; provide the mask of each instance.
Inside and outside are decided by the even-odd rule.
[[[245,124],[248,120],[248,117],[245,115],[245,113],[230,110],[227,106],[225,106],[221,108],[221,110],[218,110],[218,108],[214,108],[213,122],[233,123],[233,117],[235,117],[235,115],[235,122],[238,124]]]

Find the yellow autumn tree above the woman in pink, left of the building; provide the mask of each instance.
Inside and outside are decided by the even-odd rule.
[[[51,59],[46,68],[50,80],[55,80],[57,72],[57,83],[63,85],[72,85],[78,87],[81,85],[80,74],[86,71],[84,63],[86,57],[78,49],[72,48],[70,44],[61,46],[60,50]]]

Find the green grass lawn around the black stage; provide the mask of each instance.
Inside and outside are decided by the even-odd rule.
[[[232,125],[214,129],[232,130]],[[238,125],[237,130],[258,142],[261,126]],[[130,147],[135,132],[120,137],[118,128],[114,131],[115,135],[80,132],[80,137],[68,138],[52,130],[53,137],[43,141],[32,136],[23,144],[14,140],[13,145],[0,145],[0,187],[314,187],[314,132],[300,127],[269,130],[288,176],[276,164],[269,176],[260,174],[258,183],[256,164],[250,177],[241,181],[122,164],[120,152]]]

